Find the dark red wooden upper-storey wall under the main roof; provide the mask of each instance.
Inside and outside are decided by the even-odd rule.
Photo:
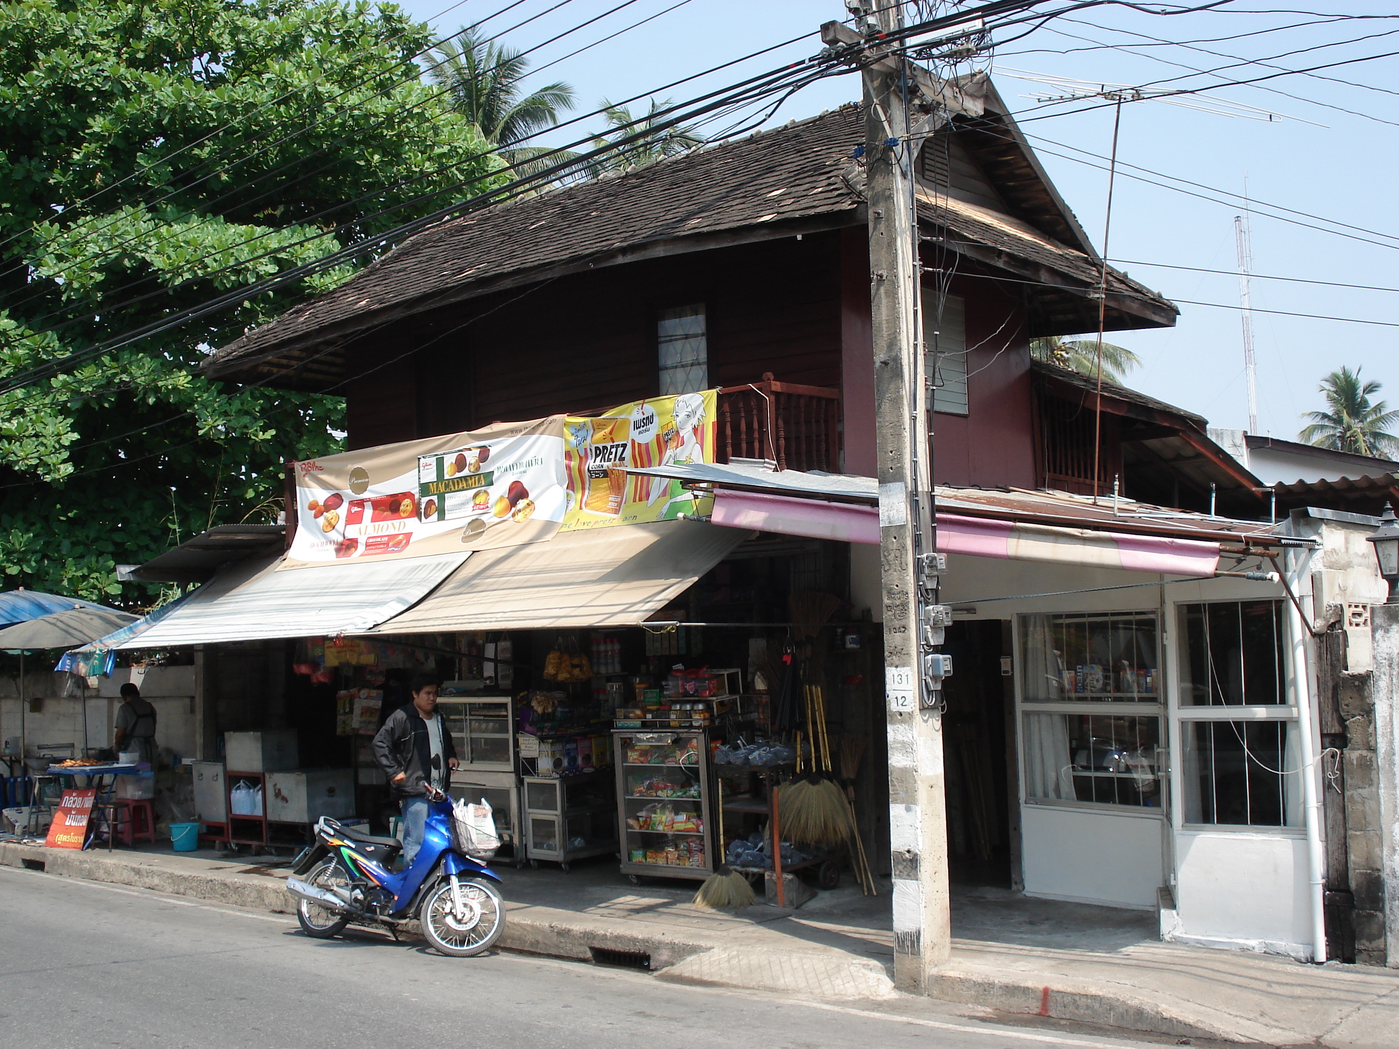
[[[935,415],[940,484],[1035,484],[1030,355],[1014,290],[958,278],[970,415]],[[709,382],[842,387],[848,473],[874,473],[863,227],[677,255],[498,292],[353,344],[351,448],[655,396],[656,315],[705,305]]]

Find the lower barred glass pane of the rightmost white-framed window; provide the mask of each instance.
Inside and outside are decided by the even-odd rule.
[[[1185,722],[1185,821],[1300,827],[1297,732],[1288,722]]]

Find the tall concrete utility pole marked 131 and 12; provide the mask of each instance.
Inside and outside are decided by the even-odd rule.
[[[943,778],[939,653],[949,610],[937,604],[932,441],[921,331],[921,269],[914,214],[916,120],[911,99],[940,101],[926,70],[901,46],[880,43],[904,25],[901,4],[846,0],[856,31],[828,22],[827,43],[866,42],[865,173],[869,208],[870,309],[874,343],[874,425],[879,449],[880,572],[888,709],[890,853],[894,880],[894,982],[926,993],[932,971],[951,954],[947,895],[947,807]],[[883,49],[883,53],[881,53]],[[876,59],[870,63],[870,59]]]

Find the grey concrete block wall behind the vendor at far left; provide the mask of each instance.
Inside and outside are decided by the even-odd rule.
[[[87,699],[78,695],[64,695],[69,685],[67,674],[48,670],[27,669],[24,688],[18,680],[0,680],[0,738],[20,736],[21,702],[41,699],[38,712],[22,712],[29,752],[36,744],[74,745],[74,754],[83,750],[83,708],[87,704],[87,745],[111,747],[116,723],[116,708],[120,705],[120,688],[132,680],[133,671],[125,667],[112,677],[98,678],[98,687],[87,690]],[[150,667],[134,673],[141,695],[155,706],[155,741],[180,757],[194,754],[194,667]],[[22,699],[21,699],[22,697]]]

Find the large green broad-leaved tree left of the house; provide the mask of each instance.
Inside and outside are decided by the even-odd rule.
[[[502,182],[420,81],[431,42],[367,3],[0,7],[0,376]],[[0,585],[139,606],[157,592],[116,564],[276,519],[281,463],[340,448],[343,400],[197,365],[364,262],[0,396]]]

